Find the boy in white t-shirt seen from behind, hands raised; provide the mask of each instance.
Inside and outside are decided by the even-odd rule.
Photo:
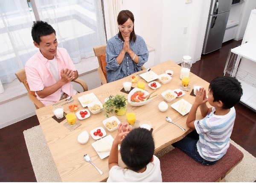
[[[121,144],[122,161],[118,166],[118,144]],[[144,128],[131,130],[128,123],[120,123],[108,158],[107,182],[162,182],[160,160],[154,155],[154,139]]]

